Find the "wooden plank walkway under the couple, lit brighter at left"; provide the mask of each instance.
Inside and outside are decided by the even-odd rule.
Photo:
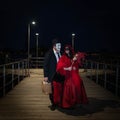
[[[120,99],[80,73],[89,104],[75,110],[50,111],[48,95],[41,91],[42,69],[31,70],[5,97],[0,98],[0,120],[120,120]]]

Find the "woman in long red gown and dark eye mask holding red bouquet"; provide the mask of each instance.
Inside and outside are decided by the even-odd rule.
[[[82,55],[80,53],[74,55],[73,49],[67,45],[57,64],[57,72],[65,76],[61,98],[63,108],[88,103],[83,81],[79,75],[79,65],[84,57]]]

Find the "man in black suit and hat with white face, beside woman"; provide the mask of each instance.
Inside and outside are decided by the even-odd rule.
[[[44,80],[51,82],[56,72],[56,65],[59,61],[59,57],[61,56],[61,43],[58,39],[53,39],[52,41],[52,49],[50,49],[44,59]],[[52,89],[53,86],[52,86]],[[53,94],[49,94],[49,99],[51,101],[50,109],[53,111],[56,109],[56,105],[53,101]]]

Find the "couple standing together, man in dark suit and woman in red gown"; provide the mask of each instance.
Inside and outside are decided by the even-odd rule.
[[[52,94],[49,94],[51,110],[55,110],[56,107],[73,108],[75,105],[88,103],[85,88],[79,76],[79,66],[84,55],[75,54],[70,45],[65,46],[62,55],[60,50],[60,41],[53,39],[52,49],[46,53],[44,60],[44,81],[51,82],[52,85]],[[64,81],[61,76],[64,76]]]

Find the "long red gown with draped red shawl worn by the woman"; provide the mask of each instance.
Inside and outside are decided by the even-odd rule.
[[[64,70],[72,65],[72,70]],[[71,59],[63,55],[58,64],[57,72],[65,76],[64,84],[54,82],[54,101],[63,108],[69,108],[76,104],[88,103],[83,81],[79,75],[79,63],[72,63]]]

